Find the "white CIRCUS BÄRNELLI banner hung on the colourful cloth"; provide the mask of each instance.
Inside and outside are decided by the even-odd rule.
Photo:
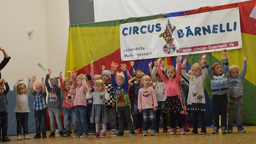
[[[239,9],[120,25],[121,60],[242,48]]]

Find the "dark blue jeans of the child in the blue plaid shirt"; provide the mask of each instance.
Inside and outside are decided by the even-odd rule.
[[[35,111],[35,120],[36,120],[36,133],[41,133],[42,126],[42,133],[46,132],[46,125],[45,125],[45,118],[46,118],[46,109]]]

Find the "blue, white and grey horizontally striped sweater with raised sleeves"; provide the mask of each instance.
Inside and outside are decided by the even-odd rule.
[[[204,65],[207,69],[208,75],[211,78],[212,95],[228,93],[228,59],[224,59],[223,73],[221,75],[215,75],[207,61],[204,62]]]

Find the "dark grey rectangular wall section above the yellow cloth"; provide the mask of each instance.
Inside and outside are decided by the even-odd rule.
[[[94,22],[93,1],[69,0],[70,24]]]

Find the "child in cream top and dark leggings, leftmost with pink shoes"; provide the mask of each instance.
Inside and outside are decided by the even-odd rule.
[[[23,81],[23,78],[19,78],[14,86],[14,94],[16,95],[16,107],[14,112],[16,113],[17,120],[17,140],[21,140],[21,127],[23,127],[24,139],[29,139],[28,136],[28,113],[30,112],[28,107],[28,96],[31,90],[31,79],[28,76],[28,88],[24,83],[19,83]]]

